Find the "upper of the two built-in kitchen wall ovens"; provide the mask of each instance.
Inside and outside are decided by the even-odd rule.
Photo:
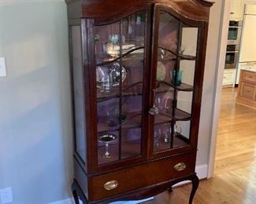
[[[228,27],[228,45],[239,45],[243,21],[230,20]]]

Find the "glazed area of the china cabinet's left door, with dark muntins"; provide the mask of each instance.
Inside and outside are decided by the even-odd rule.
[[[142,155],[146,19],[94,26],[98,165]]]

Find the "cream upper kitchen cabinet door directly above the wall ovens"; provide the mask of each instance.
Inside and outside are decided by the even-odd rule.
[[[231,0],[230,20],[243,20],[243,9],[245,0]]]

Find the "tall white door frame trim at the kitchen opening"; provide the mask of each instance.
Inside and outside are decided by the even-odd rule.
[[[230,1],[222,1],[221,10],[221,31],[219,35],[219,46],[218,46],[218,56],[217,56],[217,71],[215,75],[215,87],[214,87],[214,104],[213,104],[213,117],[212,117],[212,127],[210,129],[210,154],[208,162],[208,173],[207,178],[213,177],[215,153],[217,146],[217,129],[219,116],[221,111],[221,94],[222,94],[222,80],[224,75],[224,63],[225,63],[225,53],[228,42],[228,24],[230,18]]]

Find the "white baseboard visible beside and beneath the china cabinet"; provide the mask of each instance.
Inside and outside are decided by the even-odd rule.
[[[202,164],[202,165],[195,166],[195,173],[197,173],[197,176],[199,179],[207,178],[208,165]],[[180,186],[182,184],[187,184],[188,182],[190,181],[180,182],[179,184],[174,185],[174,187]],[[50,202],[48,204],[74,204],[74,202],[73,202],[73,199],[65,199],[57,202]]]

